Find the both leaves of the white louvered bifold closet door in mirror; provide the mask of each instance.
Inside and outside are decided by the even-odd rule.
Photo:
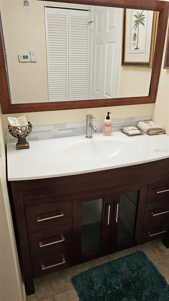
[[[88,99],[89,12],[45,8],[49,101]]]

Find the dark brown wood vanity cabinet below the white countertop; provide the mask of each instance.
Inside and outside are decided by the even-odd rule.
[[[169,247],[169,158],[80,175],[11,181],[11,188],[28,295],[35,292],[33,278],[158,238]],[[121,219],[131,210],[125,206],[133,191],[131,237]],[[85,209],[90,202],[93,207]],[[94,219],[99,202],[100,222],[91,228],[82,225],[83,210]],[[92,241],[92,231],[99,244]]]

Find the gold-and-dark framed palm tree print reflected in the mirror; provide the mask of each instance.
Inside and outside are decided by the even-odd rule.
[[[121,66],[152,68],[159,13],[123,9]]]

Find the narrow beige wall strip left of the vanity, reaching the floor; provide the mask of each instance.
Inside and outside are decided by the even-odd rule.
[[[1,115],[1,112],[0,112]],[[5,142],[2,132],[0,116],[0,143],[2,157],[0,157],[0,300],[24,301],[23,284],[17,256],[14,229],[6,185],[6,157]]]

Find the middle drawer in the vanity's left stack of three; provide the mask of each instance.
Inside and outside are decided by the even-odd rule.
[[[72,223],[28,234],[31,257],[72,247]]]

